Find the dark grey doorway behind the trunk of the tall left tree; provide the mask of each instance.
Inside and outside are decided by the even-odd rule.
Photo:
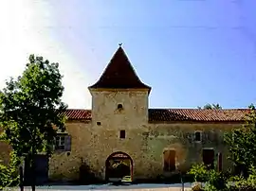
[[[48,182],[48,157],[44,154],[38,154],[35,156],[35,184],[43,185]],[[29,165],[29,161],[25,160],[24,169],[24,183],[25,185],[31,185],[32,183],[32,170]]]

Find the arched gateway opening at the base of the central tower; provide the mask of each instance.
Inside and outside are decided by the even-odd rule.
[[[133,180],[133,160],[124,152],[114,152],[105,163],[105,179],[107,182],[121,181],[124,177]]]

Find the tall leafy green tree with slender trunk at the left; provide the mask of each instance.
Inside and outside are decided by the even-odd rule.
[[[32,170],[32,190],[35,190],[35,155],[52,153],[57,130],[64,130],[62,102],[63,76],[58,63],[49,63],[43,57],[29,56],[22,76],[10,78],[0,92],[0,125],[6,141],[18,157],[26,157]]]

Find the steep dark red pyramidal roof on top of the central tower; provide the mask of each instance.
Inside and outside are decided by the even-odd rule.
[[[131,62],[121,46],[119,46],[119,49],[108,63],[101,78],[89,88],[151,90],[150,86],[141,82],[137,77]]]

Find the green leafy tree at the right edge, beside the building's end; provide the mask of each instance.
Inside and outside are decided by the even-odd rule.
[[[229,160],[245,177],[251,167],[256,167],[256,113],[253,105],[249,109],[245,118],[246,125],[225,135],[225,142],[229,146]]]

